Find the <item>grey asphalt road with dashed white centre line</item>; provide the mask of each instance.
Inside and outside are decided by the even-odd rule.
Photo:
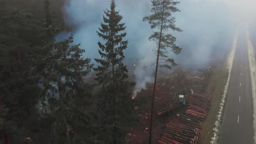
[[[219,144],[253,144],[253,98],[246,34],[239,33]]]

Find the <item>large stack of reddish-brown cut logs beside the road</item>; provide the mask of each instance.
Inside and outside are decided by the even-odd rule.
[[[158,144],[196,144],[210,102],[211,95],[201,92],[192,94],[185,114],[177,115],[167,123]]]

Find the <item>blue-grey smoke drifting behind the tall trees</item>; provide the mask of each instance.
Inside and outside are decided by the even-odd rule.
[[[72,27],[75,43],[81,43],[86,50],[85,57],[100,58],[96,30],[103,23],[103,10],[109,9],[110,0],[69,0],[64,10],[66,24]],[[155,54],[152,49],[156,44],[148,40],[152,34],[150,25],[142,21],[150,14],[150,0],[116,0],[117,10],[123,16],[122,23],[127,28],[128,49],[125,50],[125,63],[128,68],[135,66],[135,93],[146,88],[146,83],[154,80]],[[170,31],[177,37],[176,44],[183,48],[180,55],[170,56],[178,65],[185,67],[202,67],[208,65],[211,56],[224,59],[225,53],[232,47],[232,40],[237,27],[244,25],[255,12],[254,0],[181,0],[174,13],[176,25],[183,32]],[[56,39],[65,38],[61,33]],[[97,63],[95,63],[97,65]]]

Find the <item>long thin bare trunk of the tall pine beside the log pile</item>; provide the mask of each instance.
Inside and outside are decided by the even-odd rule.
[[[152,139],[151,137],[152,137],[152,124],[153,124],[153,111],[154,111],[154,97],[155,97],[155,89],[156,89],[157,76],[158,76],[158,61],[159,61],[159,53],[160,53],[162,30],[163,30],[163,16],[164,16],[164,3],[163,3],[163,10],[162,10],[161,30],[160,30],[160,37],[159,37],[159,43],[158,43],[158,55],[157,55],[156,69],[155,69],[155,75],[154,75],[154,88],[153,88],[152,103],[151,103],[149,144],[151,144],[151,139]]]

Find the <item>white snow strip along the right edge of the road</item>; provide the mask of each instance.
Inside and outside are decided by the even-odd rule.
[[[252,84],[252,96],[253,96],[253,130],[254,130],[254,143],[256,144],[256,60],[254,55],[253,45],[250,40],[250,35],[248,31],[248,26],[246,25],[246,40],[247,40],[247,52],[248,52],[248,60],[250,67],[250,75],[251,75],[251,84]]]

